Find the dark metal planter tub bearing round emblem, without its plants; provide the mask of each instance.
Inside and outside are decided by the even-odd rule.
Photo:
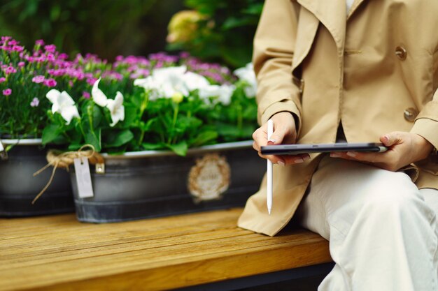
[[[79,221],[108,223],[243,206],[260,186],[266,163],[252,142],[171,151],[129,152],[105,158],[105,173],[90,165],[94,197],[71,185]]]

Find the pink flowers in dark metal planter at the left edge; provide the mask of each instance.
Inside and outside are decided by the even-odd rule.
[[[43,40],[28,52],[16,40],[0,38],[0,216],[74,211],[69,176],[64,172],[57,174],[41,201],[31,204],[50,178],[49,172],[32,178],[47,163],[41,145],[49,108],[44,95],[51,87],[65,85],[48,70],[65,60],[65,54]]]

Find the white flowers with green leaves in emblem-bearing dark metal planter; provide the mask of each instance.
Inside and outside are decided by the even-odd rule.
[[[42,133],[43,144],[80,161],[85,144],[101,153],[88,174],[92,194],[70,166],[80,221],[241,206],[257,189],[264,163],[248,141],[256,126],[250,65],[232,73],[184,53],[117,57],[105,68],[96,56],[82,61],[94,68],[88,89],[50,89]]]

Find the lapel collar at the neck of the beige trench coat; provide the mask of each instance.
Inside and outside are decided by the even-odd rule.
[[[362,2],[367,0],[355,0],[348,17],[357,10]],[[345,0],[297,0],[299,5],[309,10],[330,31],[339,52],[344,51],[346,32],[346,1]]]

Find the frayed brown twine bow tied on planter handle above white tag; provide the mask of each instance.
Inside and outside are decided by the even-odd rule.
[[[86,148],[90,148],[85,150]],[[48,161],[48,164],[42,167],[40,170],[34,172],[34,177],[38,174],[41,174],[45,169],[53,166],[52,174],[50,175],[50,179],[47,184],[45,184],[43,190],[36,195],[34,200],[32,201],[32,204],[38,200],[41,195],[47,190],[47,188],[52,184],[53,177],[55,176],[55,172],[57,167],[64,167],[67,171],[69,170],[69,165],[72,165],[74,163],[75,158],[87,158],[88,161],[91,164],[96,163],[104,163],[104,157],[102,157],[99,153],[96,152],[92,144],[84,144],[78,151],[57,151],[57,150],[50,150],[48,151],[45,158]]]

